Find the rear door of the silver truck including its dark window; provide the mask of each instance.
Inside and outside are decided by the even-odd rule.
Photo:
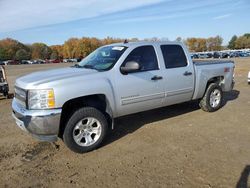
[[[161,45],[165,70],[164,88],[166,99],[164,104],[171,105],[189,101],[194,91],[194,68],[188,61],[181,45]]]

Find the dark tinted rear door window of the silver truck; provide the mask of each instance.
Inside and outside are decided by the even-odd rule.
[[[187,66],[187,58],[180,45],[161,45],[161,51],[166,68]]]

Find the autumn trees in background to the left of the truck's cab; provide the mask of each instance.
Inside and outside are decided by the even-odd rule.
[[[70,38],[63,45],[48,46],[44,43],[22,44],[6,38],[0,40],[0,60],[83,58],[102,45],[121,41],[123,39],[83,37]]]

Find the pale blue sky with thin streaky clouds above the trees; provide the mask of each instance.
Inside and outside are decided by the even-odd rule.
[[[250,32],[250,0],[0,0],[0,39],[62,44],[70,37],[139,39]]]

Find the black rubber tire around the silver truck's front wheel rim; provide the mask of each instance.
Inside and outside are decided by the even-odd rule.
[[[84,118],[94,118],[94,119],[98,120],[98,123],[99,123],[98,125],[99,125],[99,127],[101,127],[100,128],[101,133],[99,135],[99,138],[93,144],[87,145],[87,146],[79,145],[73,137],[73,134],[75,134],[74,131],[76,129],[77,124],[81,121],[83,122]],[[83,124],[83,123],[81,123],[81,124]],[[108,123],[107,123],[107,119],[105,118],[105,115],[101,111],[97,110],[96,108],[84,107],[84,108],[81,108],[81,109],[75,111],[73,113],[73,115],[70,117],[70,119],[65,127],[64,133],[63,133],[63,141],[70,150],[72,150],[76,153],[85,153],[85,152],[92,151],[100,146],[100,144],[103,142],[103,140],[107,134],[107,130],[108,130]],[[81,131],[84,132],[84,130],[81,130]],[[92,134],[94,135],[94,137],[96,136],[94,133],[92,133]],[[90,135],[91,138],[93,135]],[[85,140],[85,137],[83,139]],[[79,139],[79,140],[81,142],[81,139]],[[85,142],[87,142],[87,141],[85,141]]]

